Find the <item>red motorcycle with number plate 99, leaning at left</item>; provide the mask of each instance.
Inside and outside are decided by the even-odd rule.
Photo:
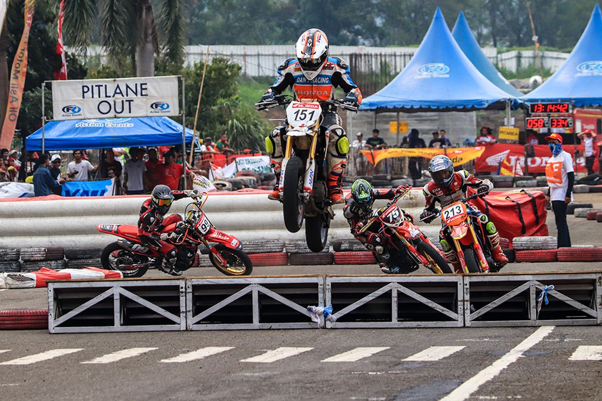
[[[206,194],[203,195],[206,201],[208,197]],[[170,242],[178,246],[176,263],[180,266],[180,270],[190,269],[197,248],[205,245],[209,249],[209,260],[223,274],[236,276],[251,274],[253,263],[243,252],[243,244],[236,237],[216,230],[201,210],[205,201],[202,197],[198,197],[193,203],[188,204],[184,211],[185,219],[176,223],[173,231],[177,235]],[[192,209],[188,210],[191,205]],[[96,228],[101,233],[121,237],[103,249],[101,254],[103,268],[118,270],[123,273],[123,277],[142,277],[149,267],[161,266],[163,254],[140,241],[137,226],[100,224]],[[209,242],[217,242],[217,245],[211,245]]]

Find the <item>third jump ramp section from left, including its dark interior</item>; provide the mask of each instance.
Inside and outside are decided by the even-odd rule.
[[[461,327],[461,275],[326,276],[327,328]]]

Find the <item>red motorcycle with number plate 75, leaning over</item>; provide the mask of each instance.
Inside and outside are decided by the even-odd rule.
[[[443,255],[420,228],[404,218],[396,202],[412,187],[397,194],[389,203],[376,211],[376,215],[358,227],[356,234],[369,231],[379,234],[391,254],[389,268],[399,267],[399,273],[410,273],[423,265],[435,274],[452,274]]]

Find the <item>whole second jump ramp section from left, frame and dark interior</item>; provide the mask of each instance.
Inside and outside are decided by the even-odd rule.
[[[308,306],[323,306],[324,276],[191,278],[189,330],[291,329],[324,326]]]

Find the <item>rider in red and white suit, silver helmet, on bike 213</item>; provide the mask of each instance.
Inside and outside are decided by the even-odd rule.
[[[462,200],[466,197],[468,186],[476,187],[477,194],[479,195],[486,195],[487,192],[491,191],[493,188],[493,185],[489,180],[479,180],[466,170],[454,171],[453,162],[444,155],[435,156],[431,159],[429,163],[429,173],[432,180],[424,185],[423,193],[424,198],[426,199],[426,205],[424,211],[420,215],[420,219],[424,219],[426,222],[430,222],[436,217],[433,216],[432,218],[425,219],[426,216],[429,216],[433,209],[435,209],[435,202],[439,202],[441,207],[445,207],[448,204]],[[489,249],[491,250],[491,256],[495,263],[498,265],[506,265],[508,259],[500,248],[500,234],[498,234],[495,224],[493,224],[492,221],[489,221],[489,218],[486,215],[479,212],[474,205],[470,205],[467,209],[470,215],[474,218],[478,218],[482,227],[485,228]],[[443,253],[448,262],[452,263],[456,272],[462,272],[462,266],[460,266],[458,257],[450,245],[452,243],[452,238],[448,236],[443,237],[440,233],[439,242],[441,242]]]

